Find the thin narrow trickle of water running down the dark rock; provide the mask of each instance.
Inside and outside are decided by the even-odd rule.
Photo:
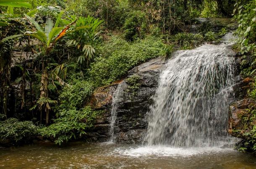
[[[117,114],[118,114],[118,102],[120,102],[122,97],[122,88],[121,85],[118,84],[117,89],[115,90],[115,93],[112,97],[112,109],[111,109],[111,119],[110,119],[110,143],[113,143],[115,141],[115,122],[117,120]]]

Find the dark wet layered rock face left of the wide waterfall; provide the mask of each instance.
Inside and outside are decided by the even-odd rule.
[[[147,126],[146,113],[152,104],[160,71],[166,61],[152,59],[136,66],[128,72],[128,77],[110,86],[97,88],[89,105],[106,113],[97,120],[95,126],[87,133],[89,141],[107,141],[110,137],[110,120],[112,97],[120,85],[122,96],[118,99],[117,121],[115,124],[115,141],[118,143],[141,143]]]

